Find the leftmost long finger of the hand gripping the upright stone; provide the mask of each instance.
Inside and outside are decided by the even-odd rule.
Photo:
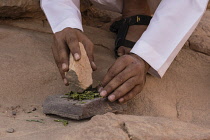
[[[69,48],[64,41],[57,43],[56,46],[61,69],[63,72],[67,72],[69,70]]]

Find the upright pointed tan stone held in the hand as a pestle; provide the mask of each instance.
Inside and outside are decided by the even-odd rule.
[[[93,84],[92,68],[86,50],[82,43],[79,43],[81,58],[79,61],[75,61],[72,54],[70,54],[69,60],[69,72],[67,72],[66,78],[69,82],[70,89],[72,91],[83,91],[89,88]]]

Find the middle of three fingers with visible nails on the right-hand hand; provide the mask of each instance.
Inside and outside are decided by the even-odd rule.
[[[117,99],[123,97],[125,94],[130,92],[135,87],[136,83],[138,83],[136,77],[130,78],[119,88],[117,88],[111,95],[109,95],[108,97],[109,101],[114,102]]]

